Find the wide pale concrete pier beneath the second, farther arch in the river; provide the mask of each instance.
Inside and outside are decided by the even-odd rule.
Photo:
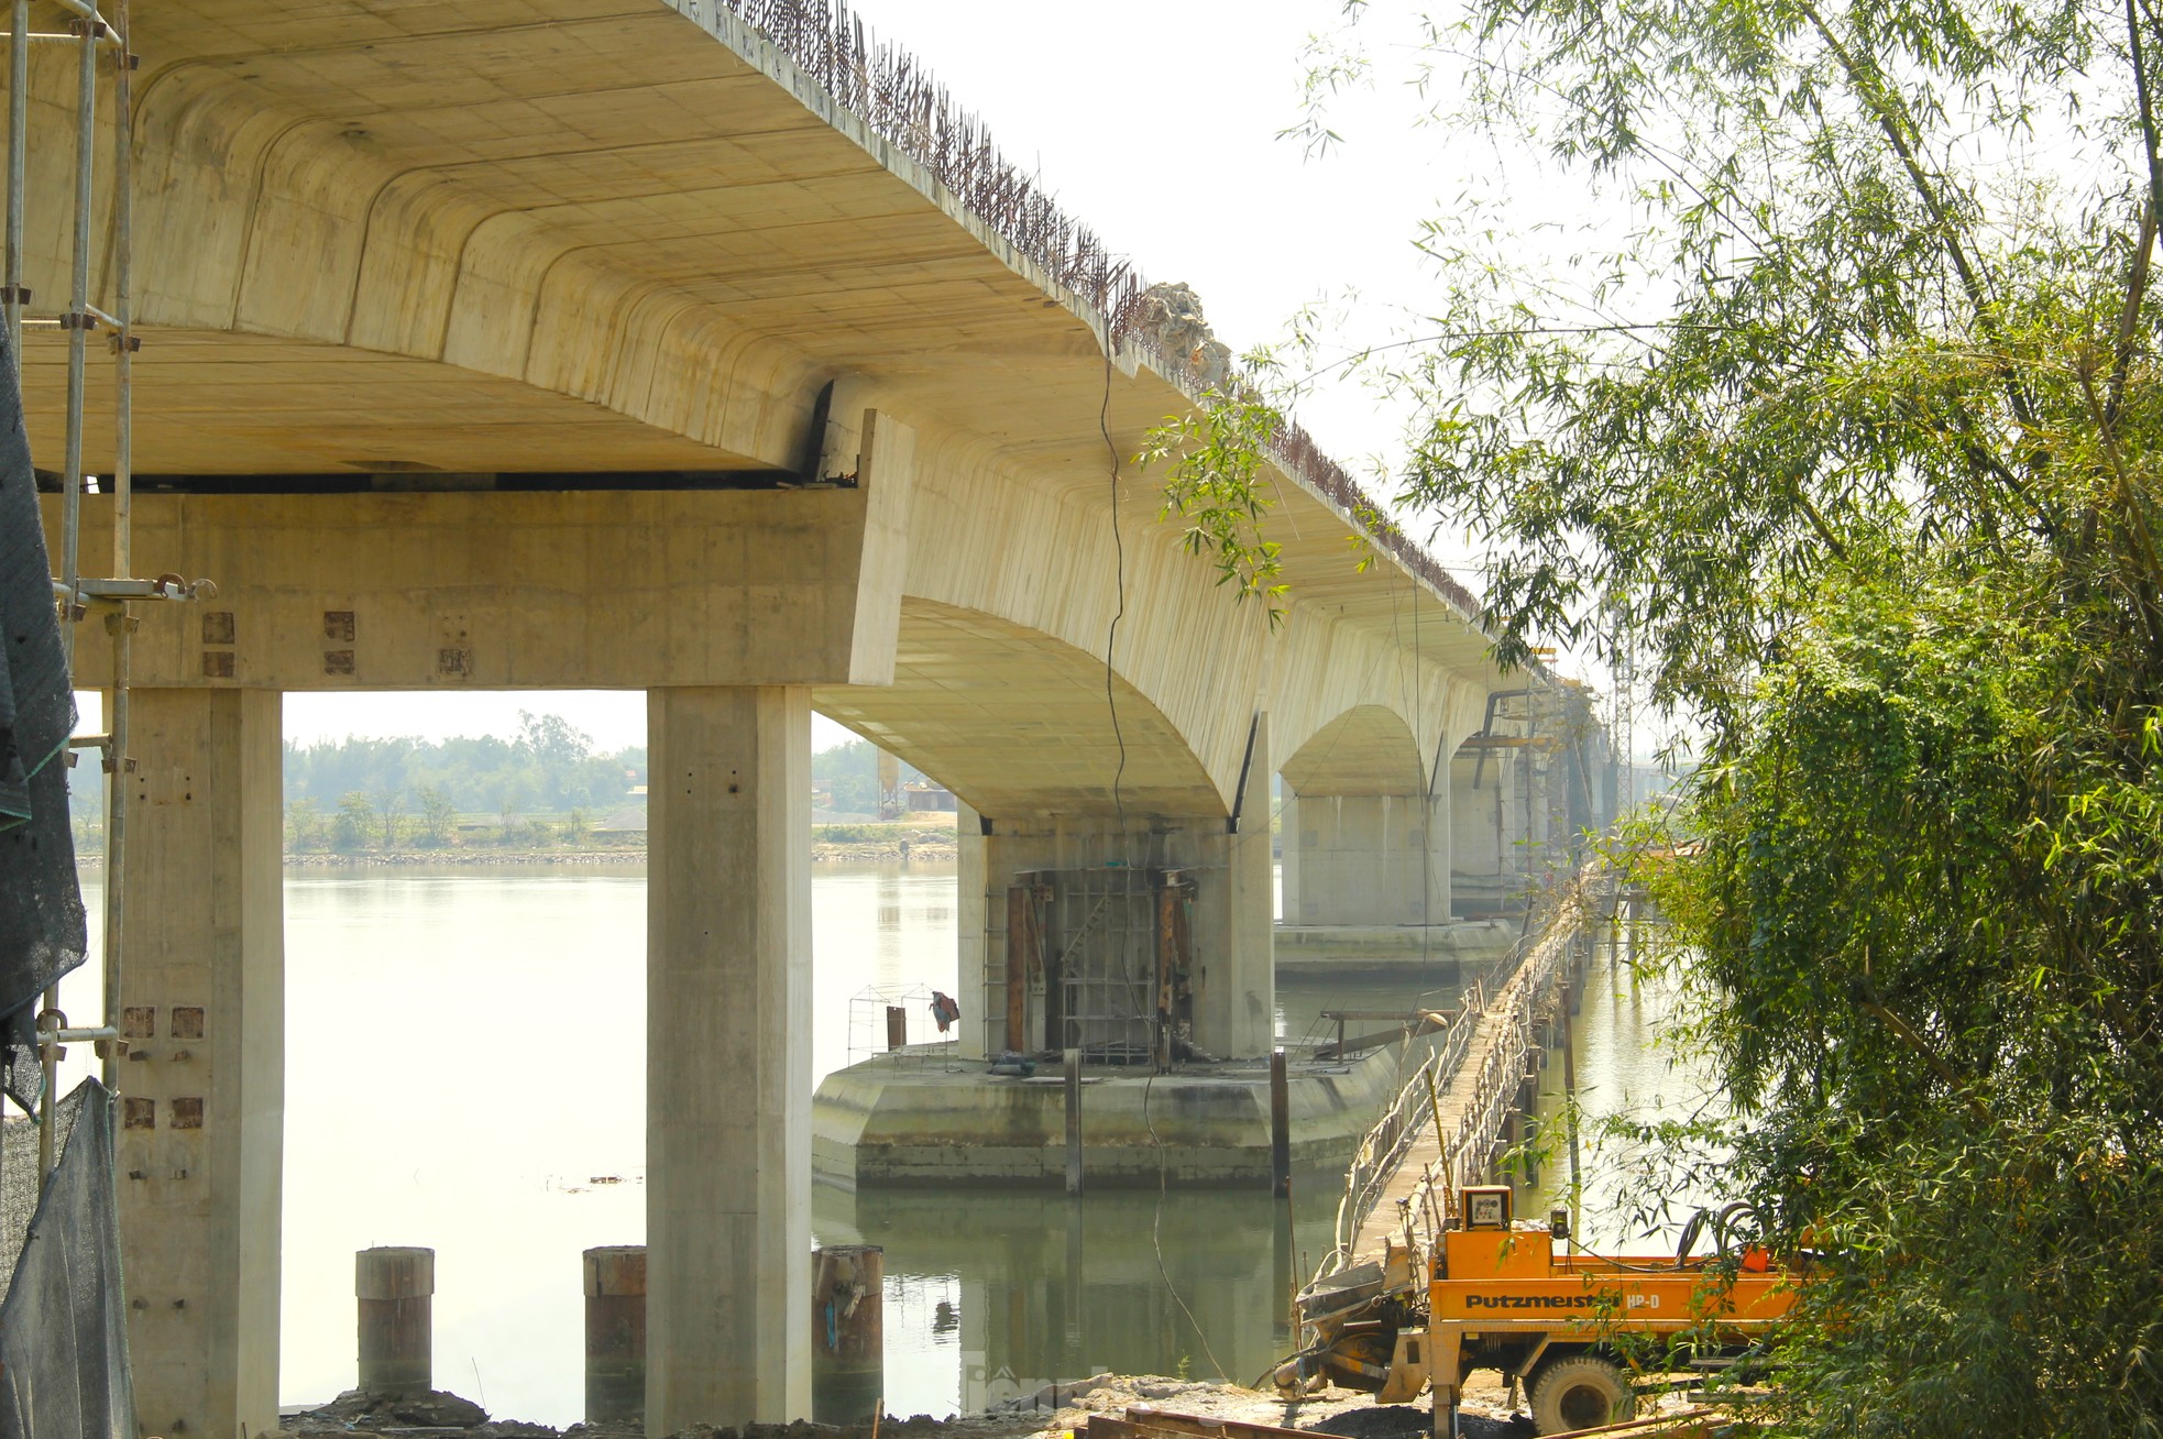
[[[1285,924],[1449,924],[1449,788],[1285,794]]]

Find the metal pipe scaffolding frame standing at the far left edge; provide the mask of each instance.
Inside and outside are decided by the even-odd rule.
[[[65,454],[61,467],[61,573],[54,599],[61,610],[61,645],[74,682],[76,625],[93,615],[104,621],[112,641],[112,677],[106,690],[106,731],[69,740],[69,766],[76,751],[97,751],[106,785],[106,894],[104,894],[104,1021],[74,1028],[61,1011],[61,989],[45,989],[37,1017],[43,1086],[39,1095],[39,1179],[52,1175],[52,1106],[61,1047],[93,1043],[99,1054],[99,1080],[119,1091],[119,1058],[125,1049],[119,1030],[121,974],[125,961],[125,894],[128,894],[128,785],[134,773],[130,744],[130,664],[132,636],[141,623],[130,606],[156,599],[199,599],[216,589],[208,580],[188,582],[175,576],[136,580],[134,576],[134,355],[141,338],[134,333],[132,262],[134,262],[134,67],[128,45],[128,2],[110,0],[108,19],[97,0],[56,0],[74,19],[67,32],[32,32],[30,2],[13,0],[9,30],[9,126],[6,126],[6,286],[0,307],[15,346],[17,400],[24,372],[24,335],[30,329],[58,329],[67,335],[67,411]],[[24,286],[24,214],[28,208],[30,154],[30,45],[69,45],[76,52],[74,87],[74,195],[67,307],[54,316],[30,314],[30,290]],[[112,158],[110,158],[110,294],[108,309],[91,303],[91,247],[97,197],[97,71],[99,56],[112,61]],[[84,493],[84,402],[89,390],[91,331],[108,331],[112,355],[112,472],[99,485],[112,496],[110,578],[82,573],[82,493]]]

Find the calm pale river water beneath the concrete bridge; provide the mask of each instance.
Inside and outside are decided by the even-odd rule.
[[[84,898],[99,913],[95,874]],[[826,1075],[870,1043],[854,995],[956,991],[954,868],[822,863],[811,898]],[[99,1008],[95,969],[65,985],[78,1017]],[[1285,985],[1278,1028],[1423,989]],[[1588,987],[1588,1104],[1663,1093],[1644,1058],[1661,1006],[1627,989]],[[353,1253],[426,1244],[437,1385],[508,1417],[582,1417],[580,1251],[642,1242],[642,868],[288,870],[281,1402],[353,1385]],[[1337,1184],[1298,1175],[1289,1212],[1261,1192],[815,1186],[811,1227],[885,1246],[889,1409],[943,1415],[1099,1370],[1252,1381],[1287,1348]]]

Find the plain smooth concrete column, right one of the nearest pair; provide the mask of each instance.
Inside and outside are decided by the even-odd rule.
[[[811,1411],[811,697],[647,695],[647,1428]]]

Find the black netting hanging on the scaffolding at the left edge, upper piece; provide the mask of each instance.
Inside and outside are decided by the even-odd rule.
[[[37,1101],[39,995],[87,950],[67,824],[74,729],[22,387],[0,335],[0,1084],[24,1106]]]

